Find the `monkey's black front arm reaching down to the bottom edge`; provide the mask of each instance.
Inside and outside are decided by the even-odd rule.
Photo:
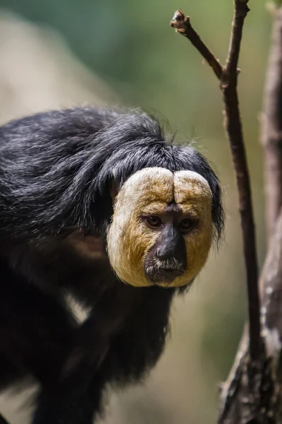
[[[59,379],[42,391],[33,424],[92,423],[101,407],[104,384],[111,376],[108,355],[130,309],[128,305],[127,311],[120,311],[120,303],[115,293],[100,299],[75,331]]]

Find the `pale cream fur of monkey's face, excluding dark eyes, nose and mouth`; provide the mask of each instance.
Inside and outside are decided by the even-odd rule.
[[[116,196],[114,216],[107,234],[111,266],[118,278],[135,286],[152,285],[144,263],[159,232],[145,225],[142,216],[161,215],[176,204],[183,216],[197,220],[197,228],[186,235],[187,266],[183,275],[165,287],[180,287],[200,272],[212,245],[212,192],[204,177],[192,171],[174,174],[161,167],[145,168],[132,175]]]

